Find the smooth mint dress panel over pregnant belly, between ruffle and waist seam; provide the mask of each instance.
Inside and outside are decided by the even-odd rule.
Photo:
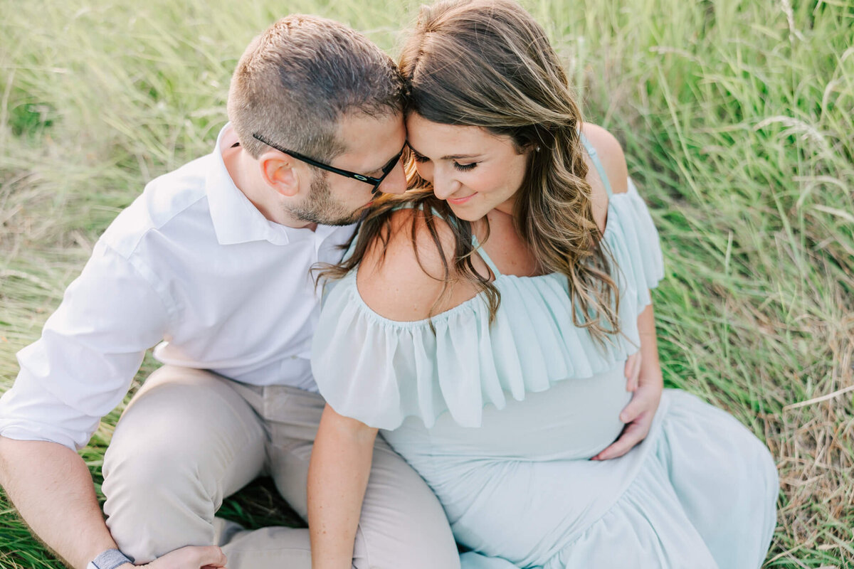
[[[411,418],[384,436],[413,464],[428,456],[430,462],[454,457],[462,461],[585,459],[617,438],[623,429],[619,414],[631,393],[626,392],[620,365],[587,379],[558,381],[547,391],[527,393],[523,401],[509,393],[506,397],[504,409],[491,404],[483,409],[481,427],[460,427],[446,413],[430,429]]]

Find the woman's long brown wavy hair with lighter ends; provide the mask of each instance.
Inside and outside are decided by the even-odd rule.
[[[514,222],[543,273],[569,282],[576,326],[588,328],[600,345],[617,334],[619,295],[611,278],[611,255],[593,217],[588,167],[579,137],[582,115],[546,33],[512,0],[452,0],[421,9],[399,61],[407,81],[406,113],[444,125],[480,126],[509,136],[529,154],[515,200]],[[485,293],[490,319],[500,294],[472,264],[472,229],[437,199],[407,160],[404,195],[388,195],[363,220],[354,254],[324,275],[353,270],[373,246],[388,243],[389,218],[406,203],[419,212],[439,249],[448,293],[451,276]],[[455,247],[448,259],[439,243],[434,212],[453,220]],[[411,224],[412,246],[420,224]],[[379,242],[377,242],[379,240]]]

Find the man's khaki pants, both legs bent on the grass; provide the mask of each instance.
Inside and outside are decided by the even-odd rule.
[[[218,543],[229,569],[310,569],[307,529],[235,531],[214,514],[225,496],[268,474],[306,519],[308,461],[324,405],[300,389],[247,386],[198,369],[164,366],[151,374],[104,458],[104,512],[119,548],[141,563],[184,545]],[[436,496],[382,438],[353,567],[459,567]]]

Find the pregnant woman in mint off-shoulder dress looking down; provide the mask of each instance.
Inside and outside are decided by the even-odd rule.
[[[508,0],[439,3],[400,64],[413,189],[328,273],[316,333],[313,566],[349,566],[377,428],[466,567],[760,566],[775,465],[726,413],[666,390],[642,444],[588,460],[623,429],[629,355],[660,385],[663,268],[622,150],[582,125],[541,27]]]

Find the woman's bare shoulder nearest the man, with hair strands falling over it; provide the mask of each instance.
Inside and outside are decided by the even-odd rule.
[[[423,320],[430,311],[441,312],[471,299],[477,290],[454,279],[455,241],[453,229],[434,216],[435,233],[416,209],[391,214],[386,239],[376,239],[359,265],[356,285],[372,311],[399,322]],[[434,306],[446,282],[453,293]]]

